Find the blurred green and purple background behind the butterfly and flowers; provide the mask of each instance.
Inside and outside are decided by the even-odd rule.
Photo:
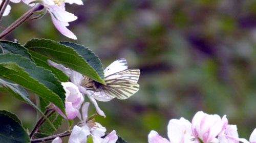
[[[11,6],[1,28],[29,9]],[[78,40],[62,36],[49,14],[27,21],[6,40],[76,42],[92,49],[104,67],[125,58],[130,68],[139,68],[138,93],[98,102],[106,118],[96,122],[107,132],[115,129],[129,143],[145,143],[151,130],[167,137],[170,119],[191,121],[203,110],[227,115],[240,137],[249,138],[256,127],[256,1],[87,0],[66,9],[78,17],[68,27]],[[36,112],[29,105],[0,93],[0,109],[33,128]]]

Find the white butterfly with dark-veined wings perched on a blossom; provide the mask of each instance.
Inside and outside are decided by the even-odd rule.
[[[101,92],[109,97],[127,99],[139,90],[139,69],[128,69],[127,62],[121,58],[104,69],[105,85],[89,78],[83,87]]]

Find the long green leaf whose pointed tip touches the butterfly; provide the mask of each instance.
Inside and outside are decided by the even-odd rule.
[[[87,61],[69,46],[47,39],[32,39],[24,46],[37,53],[48,56],[50,59],[86,75],[97,82],[105,84],[104,80],[100,78],[98,73],[87,63]]]

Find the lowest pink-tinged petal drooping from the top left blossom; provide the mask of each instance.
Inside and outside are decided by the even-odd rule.
[[[52,14],[51,14],[51,17],[52,17],[52,22],[53,22],[54,26],[57,28],[57,30],[61,34],[65,35],[71,39],[75,39],[75,40],[77,39],[76,36],[66,27],[68,22],[59,21]]]

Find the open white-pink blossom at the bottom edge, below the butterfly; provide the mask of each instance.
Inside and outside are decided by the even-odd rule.
[[[105,135],[106,128],[102,127],[99,123],[94,120],[88,120],[88,108],[90,103],[86,102],[82,106],[82,117],[80,117],[81,127],[74,126],[73,131],[69,138],[69,143],[86,143],[87,137],[90,135],[93,138],[94,143],[114,143],[117,140],[115,131],[112,131],[105,138],[101,138]]]

